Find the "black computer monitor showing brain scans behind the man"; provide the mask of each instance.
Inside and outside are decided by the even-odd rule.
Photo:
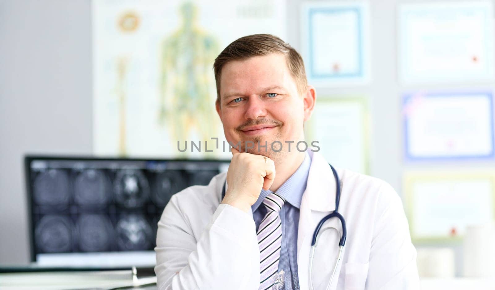
[[[227,160],[25,157],[31,260],[39,266],[155,264],[172,194],[207,185]]]

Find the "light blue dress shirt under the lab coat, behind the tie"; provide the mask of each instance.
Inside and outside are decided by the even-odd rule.
[[[299,290],[297,276],[297,227],[302,193],[306,190],[311,158],[306,156],[296,172],[276,191],[286,200],[280,210],[282,220],[282,247],[280,249],[279,272],[284,270],[284,289]],[[266,207],[260,206],[270,191],[261,190],[258,200],[251,206],[256,232],[266,214]]]

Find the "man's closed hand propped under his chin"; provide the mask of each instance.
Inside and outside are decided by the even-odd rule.
[[[227,171],[229,187],[222,203],[250,212],[261,189],[270,189],[274,179],[275,163],[272,159],[232,148],[232,160]]]

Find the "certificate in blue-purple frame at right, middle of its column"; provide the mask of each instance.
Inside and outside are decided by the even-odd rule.
[[[403,113],[406,160],[495,156],[490,92],[408,94]]]

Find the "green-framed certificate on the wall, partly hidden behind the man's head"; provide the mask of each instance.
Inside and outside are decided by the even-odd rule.
[[[317,141],[332,165],[368,174],[368,120],[365,98],[319,98],[305,126],[307,143]]]

